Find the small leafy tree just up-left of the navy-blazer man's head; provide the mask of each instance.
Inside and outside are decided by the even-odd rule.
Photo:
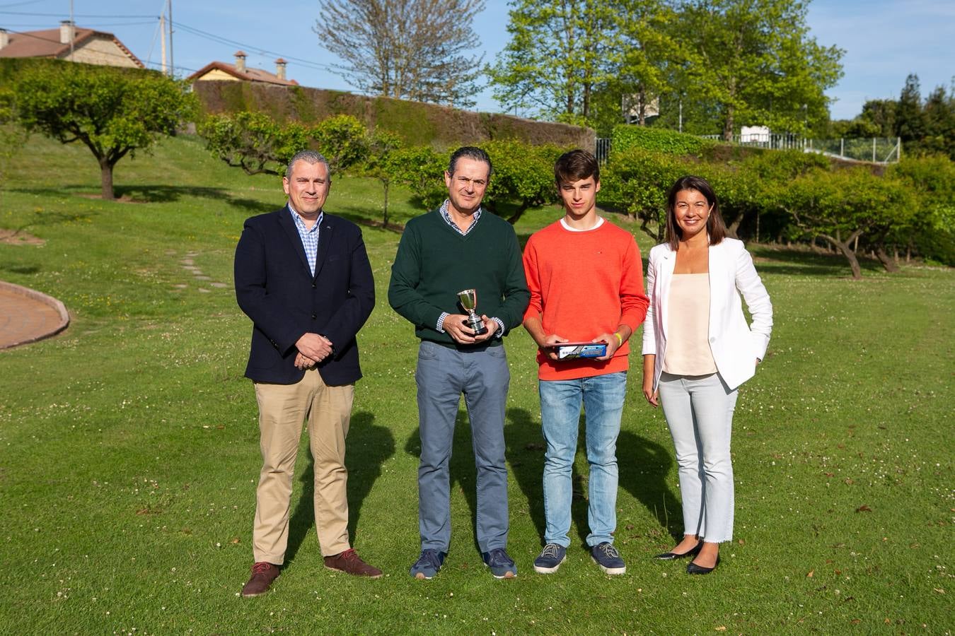
[[[304,126],[280,124],[265,113],[210,115],[199,133],[212,154],[245,174],[285,174],[288,159],[308,148]]]

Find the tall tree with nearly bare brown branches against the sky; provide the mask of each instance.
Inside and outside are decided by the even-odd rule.
[[[482,58],[468,55],[484,0],[323,0],[315,31],[362,92],[468,108]]]

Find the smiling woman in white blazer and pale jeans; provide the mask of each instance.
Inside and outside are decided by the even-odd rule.
[[[743,315],[746,299],[753,324]],[[730,437],[737,387],[766,354],[773,305],[710,184],[683,176],[667,198],[667,242],[650,250],[644,322],[644,397],[663,404],[679,466],[683,540],[657,555],[693,557],[690,574],[719,564],[732,540]]]

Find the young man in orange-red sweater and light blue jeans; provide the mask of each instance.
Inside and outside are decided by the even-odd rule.
[[[570,545],[571,471],[581,404],[590,467],[586,542],[607,574],[626,564],[613,546],[617,526],[617,436],[626,396],[627,340],[647,315],[640,250],[630,233],[597,215],[600,166],[581,150],[554,167],[563,217],[535,233],[524,249],[531,292],[524,328],[537,342],[543,469],[544,547],[534,561],[556,572]],[[595,358],[561,359],[562,342],[606,345]]]

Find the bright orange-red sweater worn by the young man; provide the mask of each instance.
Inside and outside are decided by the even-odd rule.
[[[584,232],[552,223],[530,237],[523,260],[531,292],[524,319],[540,317],[548,335],[589,341],[621,324],[636,333],[647,316],[640,249],[609,221]],[[538,352],[538,377],[574,380],[626,371],[629,352],[629,341],[608,360],[555,361]]]

